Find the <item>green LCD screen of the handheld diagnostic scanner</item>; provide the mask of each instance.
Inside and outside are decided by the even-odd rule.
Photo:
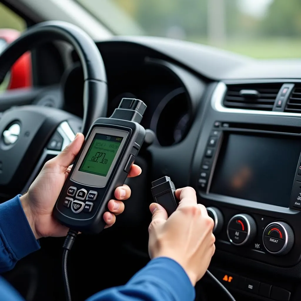
[[[79,171],[106,176],[123,137],[96,134]]]

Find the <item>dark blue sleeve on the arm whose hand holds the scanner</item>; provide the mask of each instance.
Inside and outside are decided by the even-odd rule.
[[[0,204],[0,273],[40,248],[23,211],[20,195]]]

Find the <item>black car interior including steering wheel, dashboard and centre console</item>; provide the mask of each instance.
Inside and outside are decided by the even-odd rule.
[[[126,180],[124,213],[100,234],[78,235],[70,252],[73,300],[125,284],[150,260],[151,183],[163,176],[206,206],[216,237],[209,271],[236,300],[301,299],[300,60],[155,36],[93,41],[3,3],[27,29],[13,40],[0,33],[0,82],[10,81],[0,94],[1,202],[26,192],[47,160],[122,98],[147,105],[141,125],[154,139],[135,159],[142,174]],[[27,301],[65,300],[63,242],[41,238],[3,274]],[[227,299],[206,275],[195,289],[196,300]]]

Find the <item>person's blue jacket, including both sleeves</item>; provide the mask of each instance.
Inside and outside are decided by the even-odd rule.
[[[0,204],[0,272],[12,269],[17,260],[39,247],[19,196]],[[103,290],[87,301],[190,301],[194,297],[194,287],[183,268],[172,259],[159,257],[151,260],[127,284]],[[0,300],[23,299],[0,277]]]

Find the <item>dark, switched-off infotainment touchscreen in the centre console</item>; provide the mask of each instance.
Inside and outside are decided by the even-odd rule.
[[[301,140],[287,136],[226,134],[210,192],[289,207],[300,151]]]

